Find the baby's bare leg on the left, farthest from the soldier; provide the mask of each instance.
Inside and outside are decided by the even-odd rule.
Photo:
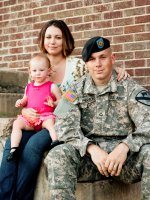
[[[18,147],[22,138],[22,130],[34,130],[33,127],[27,125],[21,118],[17,118],[13,123],[11,134],[11,148]]]

